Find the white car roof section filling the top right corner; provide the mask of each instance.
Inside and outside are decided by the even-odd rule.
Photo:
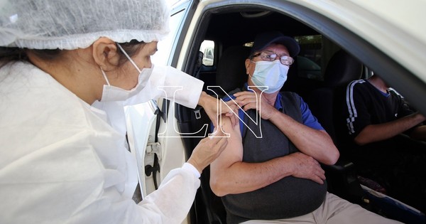
[[[426,1],[300,1],[405,65],[426,82]]]

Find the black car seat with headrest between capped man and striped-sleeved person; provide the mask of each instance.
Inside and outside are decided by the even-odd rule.
[[[337,145],[334,117],[336,95],[352,80],[358,80],[362,75],[363,65],[344,50],[338,50],[330,58],[324,73],[324,82],[307,96],[306,102],[312,114],[332,137]],[[339,93],[337,93],[339,92]],[[337,145],[338,146],[338,145]],[[338,147],[339,148],[339,147]],[[340,150],[340,149],[339,149]],[[345,198],[352,203],[366,206],[363,201],[364,191],[356,178],[354,164],[342,156],[333,166],[323,166],[327,174],[328,191]]]

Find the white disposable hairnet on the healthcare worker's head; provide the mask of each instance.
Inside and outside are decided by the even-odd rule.
[[[163,0],[0,0],[0,46],[72,50],[102,36],[160,41],[169,16]]]

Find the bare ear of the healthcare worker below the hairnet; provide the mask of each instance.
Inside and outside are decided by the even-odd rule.
[[[94,61],[104,71],[114,70],[119,65],[120,55],[117,46],[109,38],[99,38],[92,44]]]

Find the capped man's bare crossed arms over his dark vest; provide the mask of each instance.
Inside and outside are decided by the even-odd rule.
[[[245,105],[244,110],[250,109],[251,100],[241,101],[241,105]],[[262,105],[262,113],[266,112],[266,107],[268,105]],[[217,196],[255,191],[286,176],[307,178],[322,184],[325,176],[319,161],[334,164],[339,158],[339,151],[326,132],[306,127],[276,111],[274,107],[268,107],[268,110],[271,113],[261,114],[262,118],[273,122],[300,152],[262,163],[246,163],[242,161],[243,145],[239,124],[232,127],[229,118],[222,117],[222,127],[230,137],[226,149],[210,167],[210,186]]]

